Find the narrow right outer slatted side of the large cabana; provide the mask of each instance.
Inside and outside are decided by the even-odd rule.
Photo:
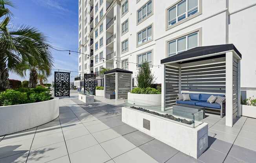
[[[238,115],[238,60],[233,58],[233,118]]]

